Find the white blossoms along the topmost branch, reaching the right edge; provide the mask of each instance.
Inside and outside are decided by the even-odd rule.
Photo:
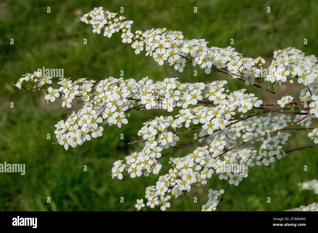
[[[98,33],[107,23],[107,20],[104,19],[105,15],[108,19],[111,19],[115,14],[108,11],[104,12],[102,7],[99,7],[85,14],[81,20],[92,24],[93,32],[97,30]],[[88,18],[91,20],[88,20]],[[199,65],[200,68],[205,69],[207,74],[211,72],[212,66],[221,69],[226,68],[229,72],[235,74],[232,75],[233,78],[244,77],[245,83],[248,85],[249,83],[253,84],[255,78],[259,78],[259,68],[265,64],[265,60],[261,57],[257,59],[245,58],[231,47],[208,47],[208,42],[204,39],[187,40],[184,39],[182,32],[167,30],[166,28],[150,29],[145,32],[138,30],[135,33],[136,36],[134,36],[130,32],[133,22],[123,20],[125,18],[120,16],[115,18],[115,23],[108,22],[111,29],[105,28],[106,35],[107,30],[117,32],[123,29],[122,42],[131,43],[131,38],[135,39],[132,44],[135,54],[139,54],[145,44],[146,56],[152,56],[159,65],[168,61],[169,65],[179,72],[183,72],[187,59],[192,61],[193,66]],[[104,34],[104,36],[106,35]],[[294,83],[294,80],[297,80],[306,86],[318,80],[317,57],[314,55],[305,56],[305,53],[301,50],[289,47],[274,51],[274,58],[276,60],[273,60],[268,67],[266,81],[281,84],[281,82],[286,82],[287,77],[290,76],[288,79],[291,84]]]

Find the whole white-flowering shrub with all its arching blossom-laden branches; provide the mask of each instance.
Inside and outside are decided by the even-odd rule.
[[[204,39],[187,40],[180,31],[164,28],[136,30],[133,34],[133,21],[117,17],[117,13],[104,11],[102,7],[85,14],[81,21],[90,24],[93,33],[100,34],[104,29],[103,35],[108,38],[121,33],[121,42],[131,44],[135,54],[145,50],[146,56],[152,56],[159,65],[169,62],[174,69],[183,72],[188,61],[187,64],[204,69],[206,74],[213,69],[280,98],[275,103],[265,103],[255,94],[245,93],[246,89],[225,90],[227,81],[205,84],[182,83],[178,78],[156,82],[148,77],[139,81],[109,77],[99,82],[63,79],[57,82],[59,87],[53,89],[48,87],[52,84],[51,77],[43,77],[40,72],[23,75],[16,86],[41,91],[47,102],[61,98],[62,107],[69,108],[74,99],[83,101],[83,107],[77,113],[73,112],[55,125],[56,143],[66,150],[92,137],[102,136],[106,124],[118,127],[128,124],[132,110],[157,108],[159,102],[164,103],[161,107],[167,112],[179,108],[175,116],[158,116],[144,122],[138,132],[142,139],[128,143],[143,143],[143,149],[126,156],[125,161],[115,161],[112,168],[112,178],[119,179],[124,175],[135,178],[158,174],[162,170],[159,159],[194,142],[204,140],[207,143],[183,157],[169,159],[168,173],[161,175],[156,185],[146,188],[146,205],[150,208],[160,205],[161,210],[166,210],[172,198],[190,192],[193,186],[204,185],[209,178],[218,175],[219,179],[228,180],[225,191],[210,189],[208,202],[202,206],[202,210],[217,210],[229,185],[237,186],[248,176],[250,167],[267,166],[287,153],[318,145],[318,128],[310,128],[312,119],[318,117],[318,65],[314,55],[305,56],[295,48],[275,51],[275,60],[263,69],[265,60],[261,57],[246,58],[231,47],[208,47]],[[276,91],[276,85],[287,80],[291,85],[296,82],[304,85],[300,100]],[[259,110],[262,111],[257,112]],[[289,128],[294,125],[300,127]],[[177,131],[177,128],[182,129]],[[285,133],[288,129],[313,130],[308,137],[315,145],[285,151],[283,146],[291,137]],[[180,144],[177,135],[182,137],[195,130],[199,132],[193,140],[177,146]],[[260,143],[259,149],[240,148],[255,142]],[[135,206],[137,210],[144,209],[143,199],[138,199]]]

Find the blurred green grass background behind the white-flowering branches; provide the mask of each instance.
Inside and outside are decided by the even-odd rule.
[[[314,1],[2,1],[0,3],[0,163],[25,163],[26,173],[0,173],[0,210],[134,210],[135,200],[144,197],[145,187],[155,184],[158,175],[111,180],[110,169],[117,159],[140,145],[137,139],[142,122],[167,112],[132,112],[128,126],[105,127],[103,136],[65,151],[54,142],[54,124],[65,119],[70,109],[60,102],[47,105],[39,93],[18,90],[12,85],[22,74],[38,68],[63,68],[65,77],[101,80],[109,76],[137,80],[179,77],[182,82],[225,79],[226,75],[198,70],[193,77],[189,66],[178,73],[167,64],[158,66],[144,53],[123,45],[120,34],[111,39],[93,34],[79,16],[103,6],[134,21],[133,29],[162,28],[183,31],[185,38],[205,38],[210,46],[234,47],[245,56],[271,59],[273,50],[294,46],[307,55],[318,55],[316,40],[318,7]],[[198,13],[193,13],[193,7]],[[46,13],[46,8],[51,13]],[[271,7],[271,13],[267,13]],[[10,39],[14,45],[10,45]],[[88,41],[83,45],[83,39]],[[308,44],[304,45],[304,38]],[[226,86],[236,90],[246,86],[230,80]],[[289,86],[282,87],[288,92]],[[266,93],[247,87],[263,100]],[[295,95],[297,97],[297,94]],[[275,99],[273,99],[275,101]],[[14,108],[10,108],[14,102]],[[76,107],[73,108],[76,110]],[[51,140],[47,140],[47,133]],[[124,140],[120,140],[120,134]],[[292,132],[286,149],[310,144],[307,133]],[[181,138],[187,141],[188,133]],[[176,152],[184,156],[192,147]],[[250,169],[249,177],[238,187],[231,186],[220,210],[285,210],[317,201],[313,191],[299,191],[297,184],[317,178],[317,148],[294,152],[268,167]],[[83,171],[87,165],[88,171]],[[308,172],[303,166],[308,166]],[[167,167],[167,161],[163,167]],[[162,171],[164,173],[164,171]],[[172,201],[170,210],[201,210],[207,190],[226,187],[225,181],[210,180],[192,193]],[[46,198],[51,197],[51,203]],[[124,203],[120,198],[124,197]],[[193,203],[198,197],[198,203]],[[271,197],[271,203],[266,202]],[[158,210],[158,209],[156,209]]]

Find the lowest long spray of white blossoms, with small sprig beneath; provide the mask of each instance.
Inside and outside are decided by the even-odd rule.
[[[152,204],[150,207],[154,208],[162,205],[160,199],[168,201],[171,197],[179,197],[184,192],[190,192],[195,185],[207,184],[207,179],[216,175],[221,180],[227,180],[229,185],[237,186],[248,176],[249,167],[261,165],[261,162],[267,166],[275,161],[275,157],[280,159],[285,156],[281,145],[285,144],[289,136],[291,135],[281,133],[272,139],[264,140],[259,155],[254,148],[244,148],[226,151],[224,156],[220,157],[223,153],[219,149],[225,147],[226,137],[222,134],[217,135],[209,147],[197,147],[195,151],[182,158],[171,157],[169,163],[173,168],[169,169],[169,173],[160,176],[155,186],[146,189],[145,198]],[[214,153],[215,151],[218,152]],[[202,206],[202,210],[216,210],[218,197],[222,192],[209,191],[209,200]]]

